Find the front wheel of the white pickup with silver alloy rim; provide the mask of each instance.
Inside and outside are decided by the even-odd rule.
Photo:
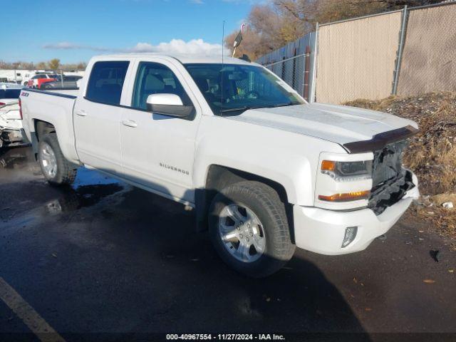
[[[232,219],[238,214],[246,221]],[[209,209],[209,234],[222,260],[252,278],[279,271],[296,248],[291,243],[284,203],[274,189],[261,182],[238,182],[219,192]]]

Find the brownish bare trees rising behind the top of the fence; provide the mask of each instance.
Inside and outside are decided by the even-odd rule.
[[[249,29],[244,41],[237,48],[250,58],[274,51],[306,33],[315,25],[356,16],[377,14],[407,6],[437,4],[444,0],[272,0],[267,4],[252,6],[248,17]],[[237,32],[227,36],[225,45],[232,51]]]

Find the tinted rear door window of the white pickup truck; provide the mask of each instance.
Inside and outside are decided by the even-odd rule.
[[[120,104],[128,61],[96,62],[87,85],[86,98],[110,105]]]

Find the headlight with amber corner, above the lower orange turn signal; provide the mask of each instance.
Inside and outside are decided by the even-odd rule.
[[[358,162],[334,162],[323,160],[321,173],[329,175],[337,182],[350,182],[353,180],[366,180],[372,177],[372,160]]]

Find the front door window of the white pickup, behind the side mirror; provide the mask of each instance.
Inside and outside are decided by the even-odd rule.
[[[142,62],[136,75],[132,107],[146,109],[150,94],[175,94],[180,96],[184,105],[190,104],[190,98],[170,68],[159,63]]]

